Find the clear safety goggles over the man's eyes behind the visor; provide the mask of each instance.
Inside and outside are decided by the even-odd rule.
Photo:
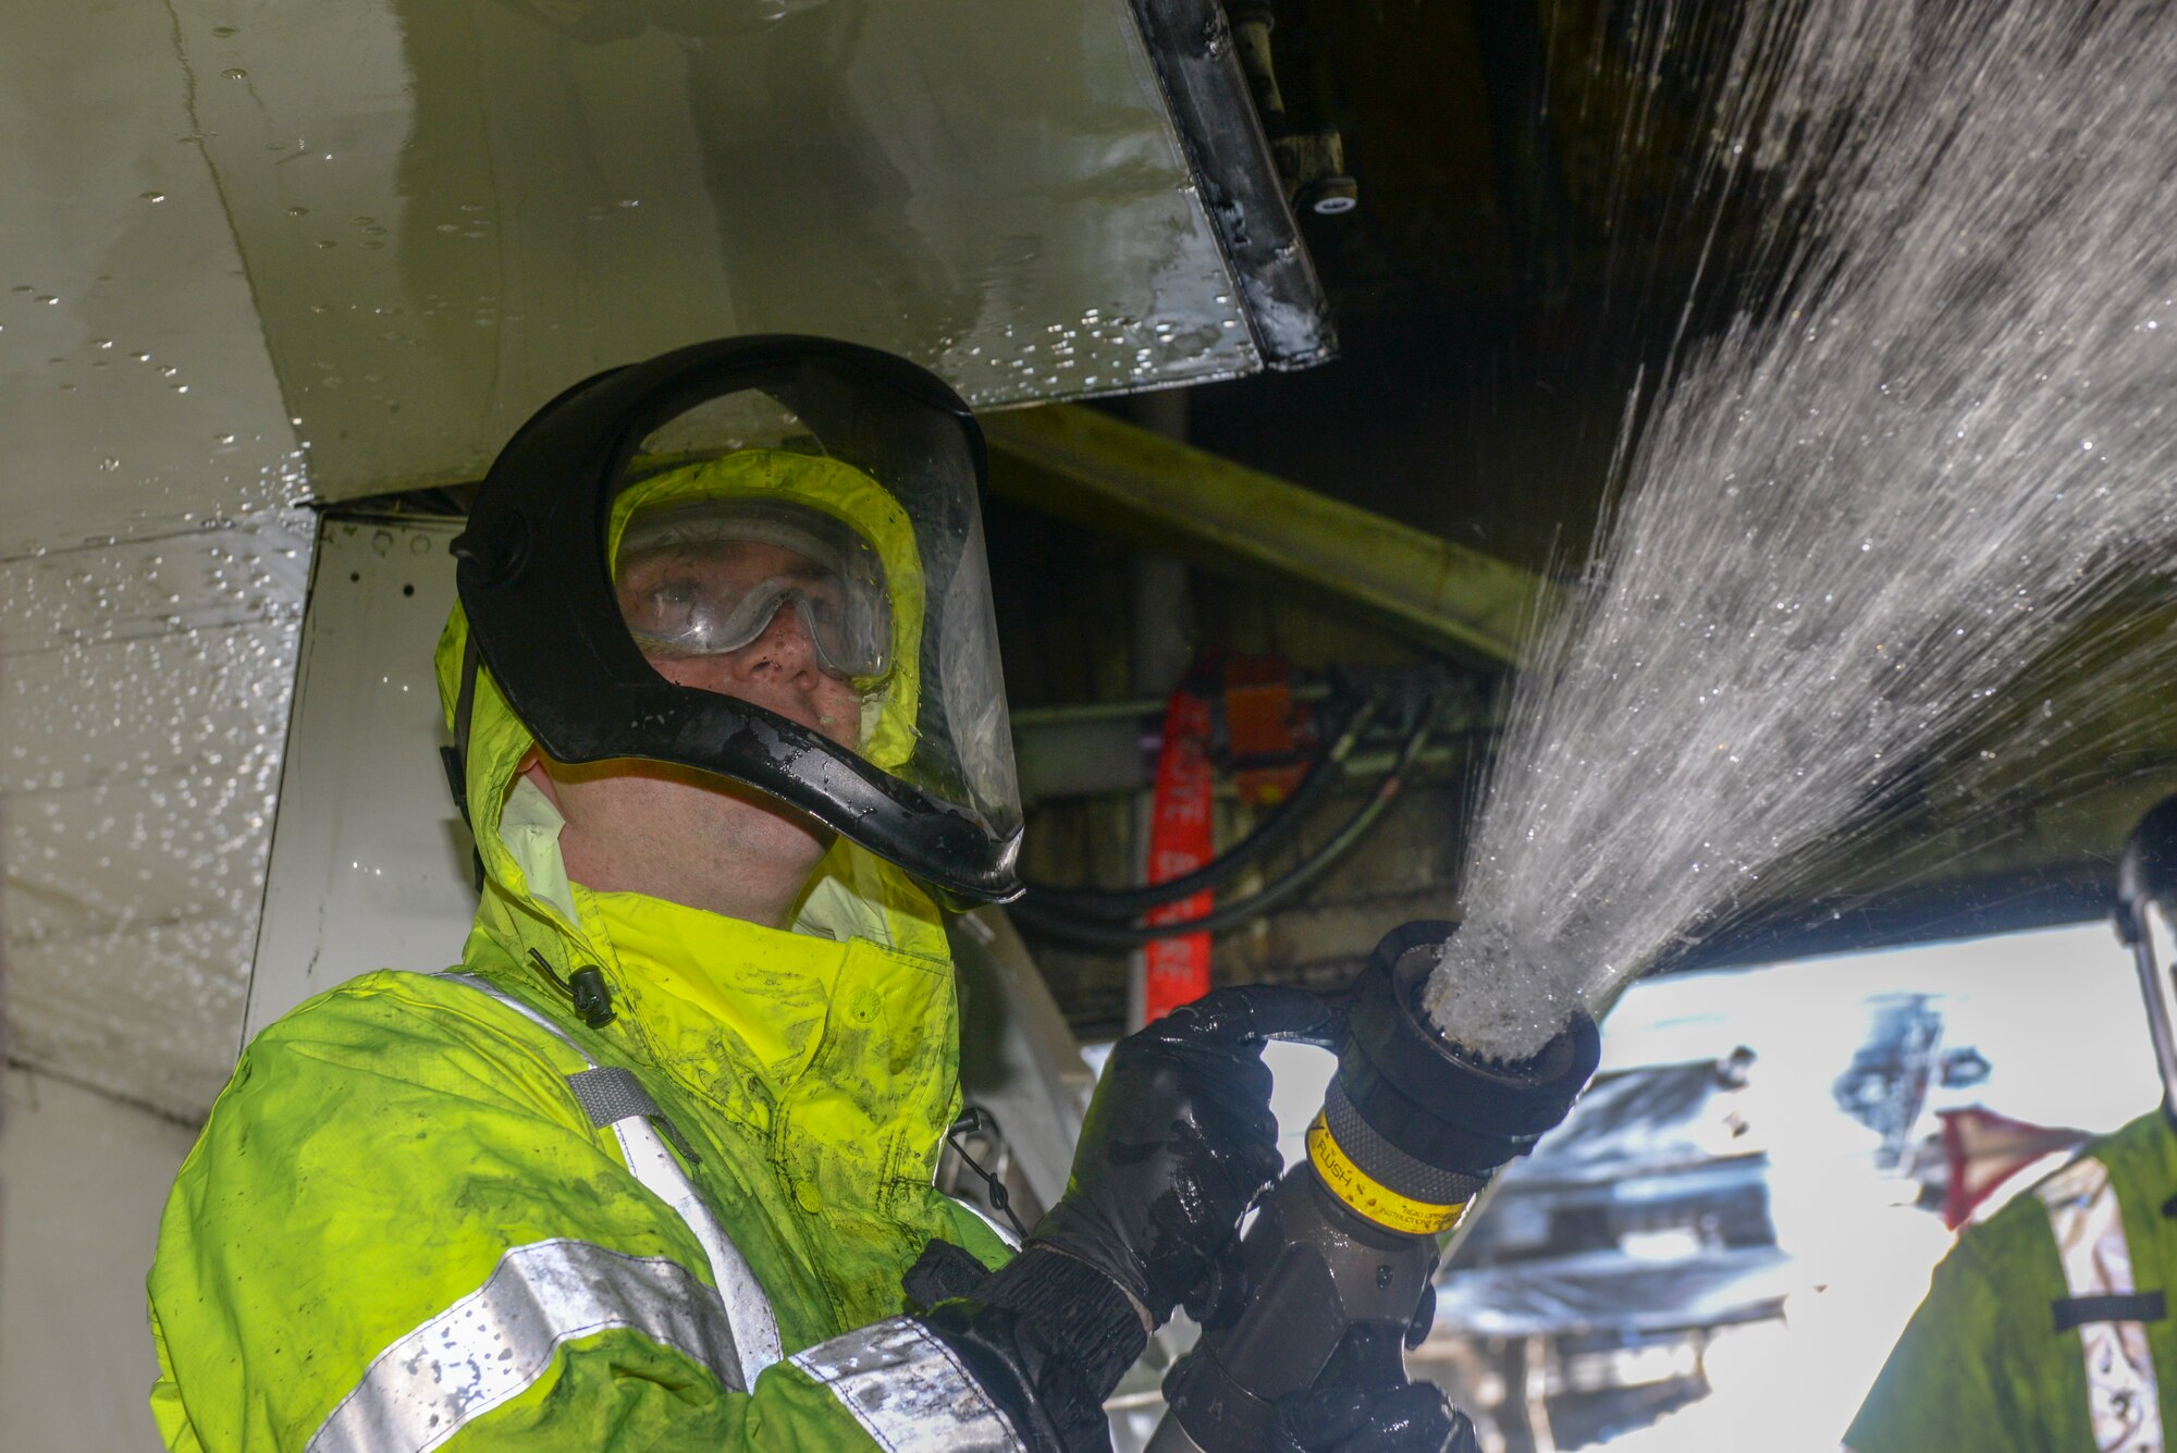
[[[792,609],[816,663],[860,690],[893,670],[893,611],[877,550],[851,524],[775,498],[636,513],[614,587],[651,657],[731,655]]]

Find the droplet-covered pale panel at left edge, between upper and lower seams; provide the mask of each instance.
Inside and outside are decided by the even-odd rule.
[[[26,1064],[194,1116],[233,1068],[309,520],[0,561],[0,953]]]

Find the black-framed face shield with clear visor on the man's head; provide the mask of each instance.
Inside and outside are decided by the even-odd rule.
[[[1008,901],[984,468],[943,381],[856,344],[740,337],[596,374],[522,424],[453,544],[464,670],[488,666],[557,761],[714,772],[954,903]]]

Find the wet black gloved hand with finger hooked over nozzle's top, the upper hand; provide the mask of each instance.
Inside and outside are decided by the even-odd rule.
[[[1284,1168],[1263,1042],[1335,1044],[1341,1033],[1332,1001],[1254,983],[1121,1040],[1088,1103],[1067,1194],[1030,1246],[1095,1266],[1163,1325]]]

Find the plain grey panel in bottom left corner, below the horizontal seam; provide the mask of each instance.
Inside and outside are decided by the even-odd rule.
[[[150,1453],[144,1272],[196,1131],[7,1070],[0,1129],[0,1449]]]

